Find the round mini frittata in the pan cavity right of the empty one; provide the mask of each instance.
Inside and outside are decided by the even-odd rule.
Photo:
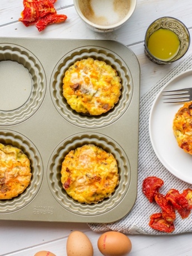
[[[117,71],[104,61],[76,61],[65,72],[63,96],[76,112],[101,115],[111,110],[121,95]]]

